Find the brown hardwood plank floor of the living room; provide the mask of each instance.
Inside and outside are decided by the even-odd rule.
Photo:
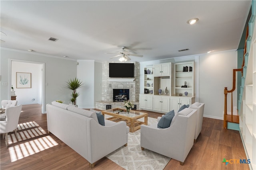
[[[161,113],[152,111],[145,111],[149,117],[157,118]],[[41,114],[41,106],[38,104],[23,105],[22,113],[20,114],[19,123],[26,123],[35,121],[38,125],[47,132],[46,114]],[[58,121],[58,120],[56,120]],[[223,121],[218,119],[210,119],[204,117],[202,132],[198,136],[197,141],[194,143],[190,150],[184,165],[181,166],[180,162],[171,159],[166,165],[164,170],[249,170],[248,164],[227,164],[222,163],[223,158],[230,159],[246,159],[244,147],[238,131],[224,129],[222,127]],[[28,127],[33,129],[34,127]],[[18,132],[26,131],[27,129],[19,130]],[[12,134],[12,133],[9,133]],[[44,137],[52,138],[58,145],[51,147],[51,145],[43,145]],[[44,139],[45,140],[45,139]],[[42,145],[36,151],[30,146],[36,143]],[[49,143],[49,141],[48,141]],[[29,144],[29,145],[28,145]],[[171,145],[171,144],[170,144]],[[24,149],[25,148],[25,149]],[[15,152],[14,152],[14,151]],[[20,151],[22,150],[22,151]],[[60,141],[52,134],[43,134],[30,139],[25,139],[10,145],[8,148],[5,146],[5,140],[0,139],[0,169],[29,169],[29,170],[89,170],[89,163],[82,156]],[[27,153],[28,152],[28,153]],[[22,158],[23,157],[23,158]],[[18,159],[18,160],[16,160]],[[108,158],[102,158],[96,162],[94,170],[124,170],[118,164],[112,162]]]

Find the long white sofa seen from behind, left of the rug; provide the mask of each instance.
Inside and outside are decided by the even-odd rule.
[[[123,145],[127,146],[129,127],[124,121],[105,120],[105,126],[102,126],[95,111],[55,101],[46,107],[48,132],[88,160],[90,168],[97,160]]]

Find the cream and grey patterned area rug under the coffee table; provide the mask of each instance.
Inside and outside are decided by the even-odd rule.
[[[148,125],[156,122],[157,119],[148,117]],[[127,147],[120,147],[106,157],[126,170],[163,170],[171,159],[148,149],[141,150],[140,129],[128,134]]]

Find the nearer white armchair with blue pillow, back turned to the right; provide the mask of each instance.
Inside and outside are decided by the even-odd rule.
[[[196,126],[196,109],[183,109],[176,114],[170,127],[161,129],[158,123],[141,125],[141,149],[149,149],[159,154],[180,161],[184,161],[194,144],[194,130]]]

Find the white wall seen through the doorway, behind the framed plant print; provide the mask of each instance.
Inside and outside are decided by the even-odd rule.
[[[42,104],[42,64],[12,61],[11,72],[11,85],[18,104]],[[31,88],[16,87],[16,72],[31,73]]]

